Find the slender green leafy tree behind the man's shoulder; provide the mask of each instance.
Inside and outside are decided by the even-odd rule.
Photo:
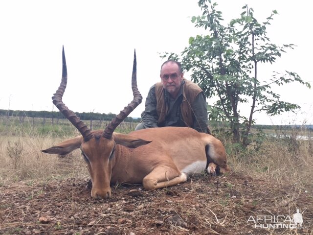
[[[209,105],[209,119],[228,121],[233,142],[246,148],[251,143],[249,133],[255,123],[255,113],[274,116],[299,108],[297,104],[282,101],[280,95],[271,90],[271,85],[298,82],[311,86],[291,71],[275,72],[265,82],[257,76],[260,63],[272,64],[286,49],[294,48],[293,44],[276,46],[267,37],[266,29],[276,10],[266,22],[259,23],[253,17],[253,9],[245,5],[240,18],[224,26],[222,12],[216,10],[217,3],[200,0],[198,4],[202,15],[192,17],[192,22],[208,34],[190,37],[189,46],[180,55],[165,53],[163,57],[179,58],[184,69],[192,71],[192,80],[201,86],[206,97],[218,97],[218,101]],[[248,117],[240,114],[238,105],[242,103],[250,106]]]

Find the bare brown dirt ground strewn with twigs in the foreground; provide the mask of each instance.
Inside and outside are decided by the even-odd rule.
[[[88,186],[88,178],[2,185],[0,234],[313,234],[313,188],[298,184],[277,185],[239,173],[203,175],[154,191],[112,186],[108,200],[92,199]],[[258,217],[258,225],[279,220],[286,226],[296,209],[303,217],[300,228],[255,228],[257,215],[268,216],[267,221]]]

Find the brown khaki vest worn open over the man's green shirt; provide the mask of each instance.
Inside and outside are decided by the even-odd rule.
[[[180,112],[185,125],[188,127],[194,127],[194,115],[193,110],[191,108],[191,104],[195,100],[196,96],[202,92],[201,88],[183,78],[185,83],[182,85],[182,102],[180,104]],[[161,82],[156,83],[156,112],[158,115],[157,124],[162,123],[165,121],[165,116],[168,112],[168,105],[165,103],[164,100],[164,92],[165,89]]]

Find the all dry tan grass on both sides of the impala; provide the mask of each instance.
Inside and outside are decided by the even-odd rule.
[[[130,124],[122,123],[120,132],[130,131]],[[55,137],[53,132],[39,134],[36,129],[23,132],[10,127],[11,133],[0,136],[0,185],[20,180],[37,180],[68,174],[87,174],[88,170],[80,151],[75,150],[66,158],[47,155],[40,150],[64,141],[70,133]],[[228,161],[234,172],[245,172],[254,177],[274,180],[277,183],[292,182],[308,185],[313,181],[313,140],[310,133],[276,133],[280,138],[269,137],[257,151],[229,154]],[[309,136],[309,140],[297,140],[296,136]],[[231,152],[231,151],[230,151]]]

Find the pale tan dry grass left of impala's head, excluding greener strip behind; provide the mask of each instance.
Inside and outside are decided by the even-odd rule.
[[[73,151],[67,158],[47,155],[40,151],[60,141],[63,141],[62,138],[53,138],[51,135],[1,136],[0,185],[67,174],[88,174],[78,150]]]

